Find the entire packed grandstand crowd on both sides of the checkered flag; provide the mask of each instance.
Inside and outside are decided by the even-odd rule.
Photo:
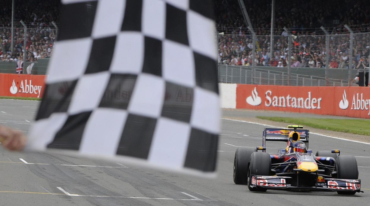
[[[58,23],[60,0],[14,0],[14,47],[11,51],[12,0],[2,0],[0,8],[0,61],[16,61],[23,57],[24,30],[27,27],[27,60],[50,58],[56,38],[50,23]],[[368,0],[279,0],[275,4],[273,50],[270,52],[271,0],[244,0],[250,21],[256,33],[256,54],[252,59],[252,36],[246,28],[237,0],[214,0],[220,64],[286,67],[290,58],[292,67],[326,67],[329,56],[330,68],[349,67],[349,32],[347,24],[355,32],[352,68],[369,64],[370,6]],[[318,6],[319,5],[319,6]],[[319,28],[324,26],[330,34],[329,51],[325,48],[325,35]],[[296,36],[289,53],[289,28]],[[201,31],[199,31],[201,32]]]

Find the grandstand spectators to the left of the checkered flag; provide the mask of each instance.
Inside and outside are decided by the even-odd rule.
[[[52,21],[58,22],[60,0],[14,0],[14,43],[11,51],[12,0],[3,0],[0,9],[0,61],[17,61],[23,58],[24,29],[27,25],[26,61],[50,58],[55,41]]]

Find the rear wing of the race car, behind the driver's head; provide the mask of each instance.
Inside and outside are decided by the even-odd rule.
[[[300,141],[305,142],[308,149],[308,138],[310,131],[308,129],[296,129],[300,136]],[[294,129],[265,128],[262,136],[262,146],[266,146],[266,141],[287,142],[288,136]]]

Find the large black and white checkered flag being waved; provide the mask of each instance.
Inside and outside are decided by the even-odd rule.
[[[215,171],[211,0],[62,0],[28,149]]]

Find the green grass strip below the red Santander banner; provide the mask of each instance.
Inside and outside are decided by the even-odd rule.
[[[289,118],[275,116],[257,116],[275,122],[285,122],[309,126],[312,128],[326,129],[336,132],[347,132],[357,135],[370,135],[370,119],[322,119],[322,118]]]

